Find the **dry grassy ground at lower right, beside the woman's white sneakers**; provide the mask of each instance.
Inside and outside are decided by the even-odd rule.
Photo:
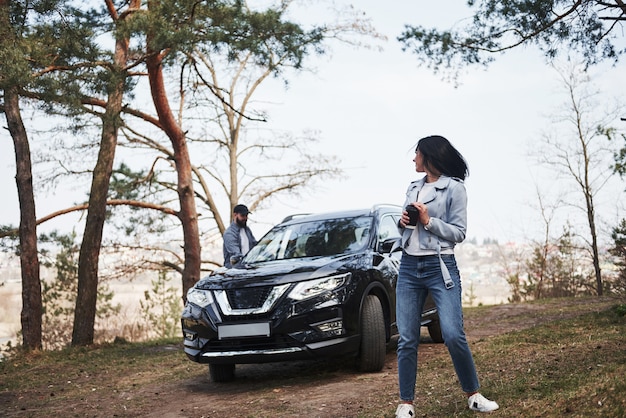
[[[472,350],[501,416],[626,416],[626,318],[616,307],[483,339]],[[440,361],[450,369],[440,358],[420,380],[437,379]],[[437,393],[458,386],[453,375],[443,380]],[[474,415],[451,403],[418,402],[416,409],[429,417]]]

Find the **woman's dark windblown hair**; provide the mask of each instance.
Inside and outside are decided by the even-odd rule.
[[[448,177],[465,180],[469,176],[469,168],[465,158],[443,136],[431,135],[417,142],[415,152],[420,150],[424,157],[424,165],[435,169]]]

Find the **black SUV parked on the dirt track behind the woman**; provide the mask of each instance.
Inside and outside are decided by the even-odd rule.
[[[272,228],[232,269],[200,280],[182,314],[187,356],[213,381],[236,363],[355,355],[379,371],[397,333],[394,244],[401,208],[294,215]],[[422,325],[442,342],[430,298]]]

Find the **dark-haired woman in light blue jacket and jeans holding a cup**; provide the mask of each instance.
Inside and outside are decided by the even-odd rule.
[[[461,279],[454,246],[465,239],[467,194],[463,181],[469,174],[463,156],[442,136],[428,136],[417,143],[415,171],[426,173],[409,185],[404,206],[418,211],[418,222],[407,228],[405,210],[399,221],[402,260],[396,286],[398,321],[398,381],[400,405],[396,417],[414,417],[413,399],[417,377],[417,347],[420,313],[430,292],[441,324],[441,332],[469,408],[490,412],[498,404],[478,393],[474,359],[463,330]]]

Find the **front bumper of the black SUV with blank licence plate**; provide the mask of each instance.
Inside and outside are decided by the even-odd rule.
[[[271,316],[222,316],[215,305],[188,303],[182,315],[184,350],[198,363],[264,363],[358,352],[358,308],[335,293],[285,306]],[[354,318],[345,316],[350,309]]]

